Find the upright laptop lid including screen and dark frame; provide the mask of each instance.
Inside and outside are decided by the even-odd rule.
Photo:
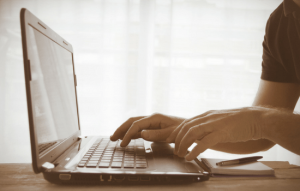
[[[72,45],[26,9],[20,13],[35,173],[80,136]]]

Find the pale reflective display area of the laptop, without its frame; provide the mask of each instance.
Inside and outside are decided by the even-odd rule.
[[[39,154],[79,130],[72,53],[28,27],[33,123]]]

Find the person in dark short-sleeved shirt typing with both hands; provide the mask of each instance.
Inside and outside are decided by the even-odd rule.
[[[208,111],[190,119],[153,114],[132,117],[110,137],[175,142],[174,154],[190,161],[210,148],[235,154],[279,144],[300,155],[300,0],[284,0],[270,15],[263,41],[262,75],[252,106]],[[196,146],[188,153],[188,148]]]

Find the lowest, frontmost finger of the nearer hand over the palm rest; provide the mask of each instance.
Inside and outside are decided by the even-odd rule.
[[[216,132],[206,135],[200,141],[196,141],[197,145],[185,156],[185,159],[187,161],[194,160],[200,153],[203,153],[206,149],[218,144],[219,141],[220,135]]]

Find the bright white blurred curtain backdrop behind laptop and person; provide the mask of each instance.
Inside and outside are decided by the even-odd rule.
[[[265,24],[281,2],[0,0],[0,162],[31,162],[22,7],[73,45],[82,133],[110,135],[131,116],[250,106]],[[300,165],[280,146],[253,155]]]

